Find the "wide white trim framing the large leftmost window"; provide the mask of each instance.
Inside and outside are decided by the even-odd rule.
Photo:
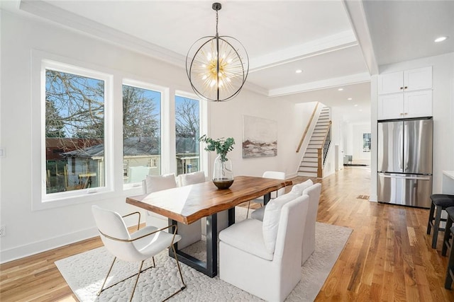
[[[104,81],[104,187],[94,187],[71,192],[46,194],[45,188],[45,69],[92,77]],[[32,121],[32,211],[65,207],[82,202],[93,202],[114,196],[113,165],[113,73],[101,66],[94,66],[74,59],[32,50],[31,69],[31,121]]]

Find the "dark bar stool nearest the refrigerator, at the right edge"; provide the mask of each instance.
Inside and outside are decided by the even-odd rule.
[[[445,231],[440,228],[440,222],[447,219],[441,218],[441,211],[448,207],[454,207],[454,195],[449,194],[431,194],[431,211],[428,214],[427,234],[431,234],[433,227],[432,248],[437,248],[438,231]]]

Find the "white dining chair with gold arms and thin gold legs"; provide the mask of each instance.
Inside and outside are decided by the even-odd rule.
[[[155,267],[155,258],[154,256],[157,255],[162,250],[166,248],[172,247],[173,254],[175,255],[175,262],[177,263],[179,277],[182,280],[182,286],[178,289],[175,293],[171,294],[168,298],[175,296],[180,291],[186,289],[186,284],[184,284],[182,270],[179,267],[179,262],[177,259],[177,253],[175,252],[174,243],[177,243],[182,237],[177,235],[177,226],[167,226],[165,228],[155,228],[154,226],[145,226],[145,228],[139,229],[140,224],[140,213],[134,212],[125,216],[120,216],[120,214],[116,213],[115,211],[110,211],[107,209],[101,209],[98,206],[92,206],[92,212],[94,216],[94,220],[96,221],[96,226],[98,227],[99,234],[101,236],[101,240],[104,243],[106,249],[114,255],[114,261],[107,273],[106,279],[101,286],[101,290],[98,292],[98,296],[101,294],[102,291],[115,286],[116,284],[125,281],[131,277],[134,277],[133,274],[126,279],[118,281],[116,284],[112,284],[106,288],[106,281],[109,278],[109,274],[111,273],[112,267],[114,267],[114,263],[116,262],[117,258],[128,261],[128,262],[140,262],[140,268],[137,273],[137,278],[135,279],[133,293],[131,294],[131,298],[129,301],[132,301],[134,296],[135,287],[137,286],[140,273],[144,272],[147,269]],[[129,233],[128,228],[123,220],[123,217],[131,216],[133,214],[138,214],[138,231],[134,233]],[[173,233],[168,233],[167,228],[174,228]],[[147,259],[153,258],[153,266],[148,267],[146,269],[142,269],[143,262]],[[166,298],[165,300],[167,300]]]

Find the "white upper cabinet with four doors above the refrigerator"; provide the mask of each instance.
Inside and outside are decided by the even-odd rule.
[[[432,66],[378,78],[378,120],[432,116]]]

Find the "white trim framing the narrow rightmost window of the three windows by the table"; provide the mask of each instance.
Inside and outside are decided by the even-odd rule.
[[[190,98],[192,100],[199,100],[199,132],[200,135],[208,133],[208,105],[206,100],[201,100],[195,93],[187,93],[186,91],[175,91],[175,96],[180,96],[182,98]],[[175,98],[173,100],[175,103]],[[174,106],[174,116],[175,116],[175,106]],[[173,125],[175,129],[175,124]],[[204,144],[199,144],[199,155],[200,155],[200,170],[204,171],[205,178],[210,175],[208,169],[208,156],[207,152],[204,152]],[[176,154],[174,154],[176,156]],[[175,157],[174,156],[174,157]],[[176,173],[176,171],[175,171]]]

